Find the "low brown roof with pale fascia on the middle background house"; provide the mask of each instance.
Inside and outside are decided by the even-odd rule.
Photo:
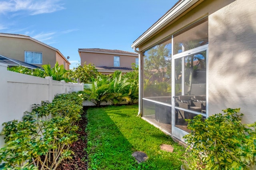
[[[110,50],[110,49],[78,49],[78,52],[88,52],[88,53],[102,53],[102,54],[114,54],[114,55],[130,55],[130,56],[138,56],[137,53],[132,53],[128,51],[122,50]]]

